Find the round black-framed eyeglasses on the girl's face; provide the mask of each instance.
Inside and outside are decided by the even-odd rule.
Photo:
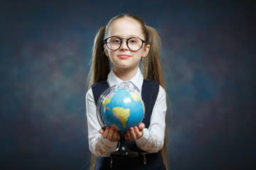
[[[131,51],[138,51],[142,48],[142,45],[144,40],[137,38],[137,37],[132,37],[132,38],[119,38],[119,37],[109,37],[104,40],[105,44],[110,50],[118,50],[119,47],[122,45],[122,40],[126,40],[127,42],[127,47]]]

